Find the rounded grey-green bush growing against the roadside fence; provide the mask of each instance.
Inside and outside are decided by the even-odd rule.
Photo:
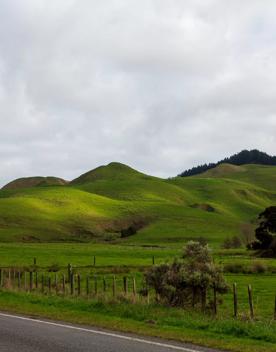
[[[171,306],[207,306],[210,293],[226,293],[223,273],[214,264],[208,245],[190,241],[181,259],[172,264],[153,266],[146,282],[159,301]],[[210,301],[210,300],[209,300]]]

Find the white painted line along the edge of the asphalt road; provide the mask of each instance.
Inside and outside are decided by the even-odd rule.
[[[112,332],[105,332],[105,331],[100,331],[100,330],[81,328],[81,327],[73,326],[73,325],[54,323],[54,322],[50,322],[50,321],[46,321],[46,320],[21,317],[19,315],[0,313],[0,316],[7,317],[7,318],[14,318],[14,319],[32,321],[34,323],[41,323],[41,324],[46,324],[46,325],[58,326],[58,327],[61,327],[61,328],[67,328],[67,329],[72,329],[72,330],[84,331],[84,332],[89,332],[89,333],[97,334],[97,335],[111,336],[111,337],[115,337],[115,338],[122,339],[122,340],[135,341],[135,342],[140,342],[140,343],[144,343],[144,344],[148,344],[148,345],[165,347],[165,348],[169,348],[169,349],[172,349],[172,350],[178,350],[178,351],[184,351],[184,352],[199,352],[198,350],[193,350],[193,349],[187,348],[187,347],[169,345],[169,344],[166,344],[166,343],[161,343],[161,342],[156,342],[156,341],[140,339],[140,338],[137,338],[137,337],[131,337],[131,336],[115,334],[115,333],[112,333]]]

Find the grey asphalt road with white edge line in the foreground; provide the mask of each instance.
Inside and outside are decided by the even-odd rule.
[[[0,313],[2,352],[214,352],[161,339]]]

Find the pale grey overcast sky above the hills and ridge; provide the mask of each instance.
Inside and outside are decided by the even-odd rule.
[[[276,154],[275,0],[0,0],[0,184]]]

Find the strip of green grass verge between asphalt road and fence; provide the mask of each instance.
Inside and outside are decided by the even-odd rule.
[[[244,352],[276,351],[276,324],[240,321],[156,304],[0,292],[0,309]]]

